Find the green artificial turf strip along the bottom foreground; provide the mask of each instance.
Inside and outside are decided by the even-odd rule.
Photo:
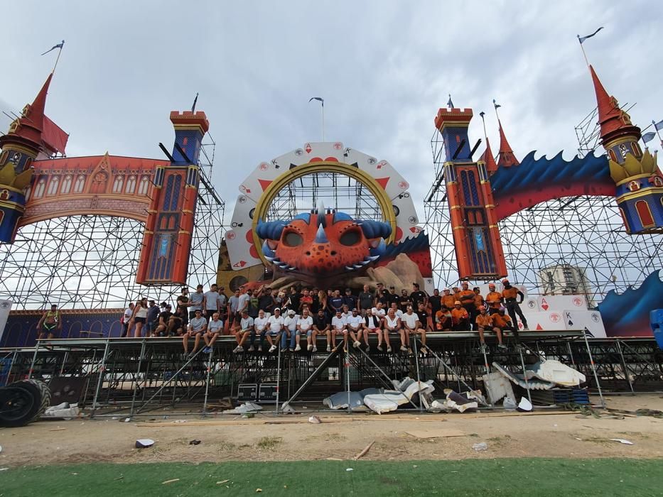
[[[171,479],[179,480],[162,483]],[[94,463],[0,471],[2,496],[249,496],[257,488],[264,496],[657,496],[663,459]]]

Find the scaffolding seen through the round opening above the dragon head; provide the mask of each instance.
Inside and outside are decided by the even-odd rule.
[[[365,185],[340,173],[311,173],[290,182],[274,197],[266,214],[268,221],[292,219],[323,204],[354,219],[382,220],[382,210]]]

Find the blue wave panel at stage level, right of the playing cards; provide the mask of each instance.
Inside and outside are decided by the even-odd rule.
[[[645,278],[640,288],[628,288],[624,293],[610,290],[598,305],[608,337],[651,336],[649,312],[663,309],[663,281],[659,271]]]

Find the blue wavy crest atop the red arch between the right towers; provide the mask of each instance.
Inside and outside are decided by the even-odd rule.
[[[528,153],[520,165],[497,169],[490,177],[490,185],[495,195],[507,195],[509,192],[529,190],[539,185],[574,182],[613,183],[610,178],[608,158],[605,155],[596,157],[590,152],[583,158],[576,155],[572,160],[564,160],[560,152],[551,159],[545,155],[535,159],[536,152]]]

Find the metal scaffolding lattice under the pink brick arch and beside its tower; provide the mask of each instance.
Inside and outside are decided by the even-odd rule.
[[[225,202],[212,186],[215,143],[201,147],[200,186],[189,259],[190,285],[216,282]],[[126,307],[141,295],[161,302],[177,285],[136,284],[144,223],[108,216],[56,217],[23,226],[14,244],[0,244],[0,298],[14,310]]]

